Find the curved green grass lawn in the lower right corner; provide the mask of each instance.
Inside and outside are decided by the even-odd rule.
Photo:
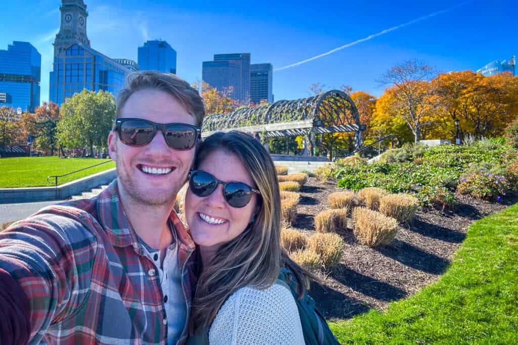
[[[437,283],[330,327],[341,343],[517,343],[518,205],[473,223]]]

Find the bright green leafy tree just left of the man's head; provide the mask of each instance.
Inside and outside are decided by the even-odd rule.
[[[68,148],[87,147],[93,156],[94,146],[106,148],[116,116],[115,98],[107,91],[83,89],[66,99],[61,116],[57,126],[59,142]]]

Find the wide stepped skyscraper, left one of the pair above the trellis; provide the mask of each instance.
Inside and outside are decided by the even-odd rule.
[[[202,65],[202,79],[218,91],[233,87],[230,98],[250,101],[250,53],[214,54],[214,61]]]

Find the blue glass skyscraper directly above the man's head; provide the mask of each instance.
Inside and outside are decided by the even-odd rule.
[[[142,70],[176,74],[176,50],[166,41],[147,41],[138,47],[138,65]]]

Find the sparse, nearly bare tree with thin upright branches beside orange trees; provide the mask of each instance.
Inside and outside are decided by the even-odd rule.
[[[414,134],[415,142],[421,139],[423,117],[434,106],[427,81],[435,74],[433,67],[412,60],[395,65],[381,79],[382,84],[397,90],[394,105],[399,108],[401,118]]]

